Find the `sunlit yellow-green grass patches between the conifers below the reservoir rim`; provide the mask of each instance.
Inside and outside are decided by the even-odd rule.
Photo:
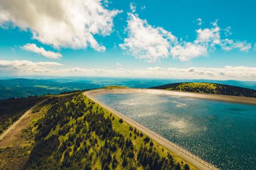
[[[90,99],[86,98],[86,96],[84,96],[82,94],[80,94],[75,100],[73,99],[72,103],[77,105],[78,104],[77,101],[79,101],[78,98],[82,99],[84,101],[84,103],[87,105],[87,107],[92,106],[92,112],[97,111],[98,113],[103,113],[105,118],[110,117],[111,120],[113,120],[113,117],[114,117],[114,120],[112,121],[113,130],[122,134],[124,136],[125,140],[131,139],[132,143],[134,145],[134,148],[135,148],[135,150],[134,150],[135,151],[135,161],[131,161],[129,163],[132,163],[135,166],[137,166],[137,169],[143,169],[142,165],[138,165],[138,161],[136,161],[136,157],[137,157],[138,151],[140,149],[140,146],[144,143],[143,139],[144,139],[145,135],[143,135],[143,137],[137,136],[137,133],[136,134],[134,133],[134,129],[133,130],[130,129],[131,128],[130,125],[126,124],[125,122],[119,123],[119,118],[117,116],[112,115],[110,112],[104,110],[104,108],[102,108],[98,104],[95,104],[94,102],[90,101]],[[70,104],[71,103],[67,102],[66,106],[68,106]],[[47,115],[48,113],[46,113],[46,111],[47,110],[45,110],[44,114],[41,114],[41,115]],[[67,133],[59,135],[59,137],[58,137],[58,140],[59,140],[59,147],[58,148],[59,149],[57,149],[57,150],[56,150],[56,148],[54,149],[56,151],[56,153],[58,153],[59,152],[58,150],[60,150],[60,147],[63,144],[63,142],[65,142],[65,140],[68,140],[70,136],[75,135],[77,137],[77,136],[81,135],[81,133],[76,132],[76,129],[77,129],[77,126],[78,126],[79,122],[81,120],[83,120],[84,116],[86,116],[87,114],[89,114],[89,113],[87,112],[87,113],[85,113],[82,116],[79,116],[77,118],[72,118],[71,117],[71,119],[67,122],[67,124],[62,126],[62,127],[60,127],[60,125],[58,124],[57,126],[55,126],[54,128],[51,129],[51,131],[48,133],[48,135],[46,135],[46,137],[44,137],[44,140],[47,142],[47,140],[49,140],[51,137],[56,136],[57,134],[59,134],[59,131],[62,131],[63,128],[65,128],[67,126],[70,126],[70,129],[68,130]],[[32,133],[32,135],[31,135],[32,138],[34,136],[36,136],[36,134],[38,134],[38,132],[39,132],[38,126],[40,125],[41,120],[44,119],[43,117],[44,116],[41,116],[40,118],[31,120],[30,126],[29,126],[29,128],[27,128],[26,132],[28,132],[30,134]],[[86,127],[88,128],[88,126],[89,126],[89,124],[86,122]],[[130,136],[130,133],[132,134],[131,136]],[[135,136],[136,136],[136,138],[135,138]],[[91,132],[90,133],[90,141],[94,141],[95,139],[97,139],[97,144],[91,145],[91,149],[89,150],[90,155],[92,155],[92,169],[101,169],[101,157],[99,155],[97,155],[96,153],[100,152],[101,147],[103,147],[103,145],[104,145],[104,140],[102,140],[98,135],[96,135],[95,132]],[[30,138],[30,140],[31,140],[31,138]],[[38,141],[36,141],[36,142],[38,142]],[[167,159],[167,154],[170,153],[170,152],[167,151],[165,148],[163,148],[161,145],[159,145],[157,142],[155,142],[155,141],[152,141],[152,142],[154,143],[154,147],[153,147],[153,148],[155,148],[154,150],[157,153],[159,153],[159,155],[161,155],[161,157],[164,157],[164,158]],[[31,141],[31,143],[34,143],[34,140]],[[52,143],[50,143],[50,144],[52,145]],[[88,145],[88,144],[90,145],[90,143],[88,143],[88,140],[87,140],[86,143],[81,142],[80,146],[77,148],[77,151],[84,149],[85,145]],[[146,143],[147,147],[149,147],[149,145],[150,145],[149,143]],[[75,144],[73,143],[73,144],[70,145],[70,147],[67,148],[67,150],[65,152],[62,153],[62,156],[60,158],[60,163],[62,163],[62,161],[65,161],[65,157],[67,157],[66,156],[67,153],[69,153],[69,155],[71,156],[70,159],[72,159],[72,155],[75,154],[74,147],[75,147]],[[36,148],[36,144],[34,146],[34,149],[35,148]],[[40,149],[41,152],[43,150],[47,150],[45,148],[37,148],[37,149]],[[29,149],[28,152],[30,153],[30,151],[31,151],[31,149]],[[41,153],[41,152],[39,152],[39,153]],[[7,154],[7,152],[5,152],[5,154]],[[124,169],[122,164],[121,164],[121,160],[122,160],[121,154],[122,154],[122,150],[119,149],[119,148],[114,153],[114,155],[116,156],[116,159],[118,160],[118,165],[117,165],[116,169]],[[175,163],[179,162],[181,164],[182,169],[183,169],[184,164],[187,163],[187,162],[185,162],[184,160],[182,160],[181,158],[176,156],[174,153],[171,153],[171,155],[174,159],[174,162]],[[113,157],[113,154],[112,154],[112,157]],[[33,157],[31,157],[30,158],[30,163],[27,164],[26,168],[28,168],[28,169],[37,169],[35,166],[30,166],[32,164],[31,159],[32,159],[32,163],[33,163]],[[35,159],[37,159],[37,158],[35,158]],[[54,152],[49,157],[49,160],[52,160],[52,159],[54,159]],[[83,158],[81,160],[81,162],[84,163],[84,161],[86,161],[85,159],[86,158]],[[59,161],[57,160],[57,162],[59,162]],[[196,169],[193,165],[191,165],[189,163],[187,163],[187,164],[190,166],[190,169]],[[110,164],[110,168],[112,169],[111,164]]]

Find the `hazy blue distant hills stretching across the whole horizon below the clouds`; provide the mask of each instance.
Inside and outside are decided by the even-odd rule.
[[[31,95],[57,94],[64,91],[95,89],[105,86],[126,86],[149,88],[168,83],[208,82],[256,89],[256,82],[216,81],[216,80],[177,80],[177,79],[139,79],[139,78],[15,78],[0,79],[0,100],[23,98]]]

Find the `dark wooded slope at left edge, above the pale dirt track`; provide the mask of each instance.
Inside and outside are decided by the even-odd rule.
[[[46,99],[45,96],[30,96],[28,98],[0,101],[0,134],[12,125],[28,109],[44,99]]]

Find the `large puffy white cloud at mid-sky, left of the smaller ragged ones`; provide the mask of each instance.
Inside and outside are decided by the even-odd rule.
[[[167,58],[171,44],[177,41],[176,37],[161,27],[154,28],[148,25],[146,20],[142,20],[132,13],[128,13],[128,16],[126,30],[129,36],[119,46],[126,53],[148,62]]]

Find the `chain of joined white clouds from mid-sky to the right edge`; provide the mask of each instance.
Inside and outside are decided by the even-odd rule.
[[[201,26],[202,19],[198,18],[197,21]],[[169,56],[181,61],[189,61],[200,56],[207,57],[209,53],[216,50],[216,46],[220,46],[223,50],[238,48],[242,52],[247,52],[251,48],[251,43],[246,41],[221,39],[222,30],[217,20],[211,25],[211,28],[196,30],[197,38],[194,41],[187,42],[182,39],[178,41],[178,38],[171,32],[149,25],[137,14],[128,13],[126,28],[128,37],[119,46],[125,53],[152,63]],[[230,27],[224,31],[226,34],[231,34]]]

